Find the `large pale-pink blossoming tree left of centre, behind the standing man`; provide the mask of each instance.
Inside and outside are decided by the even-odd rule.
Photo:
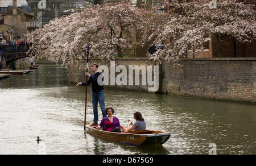
[[[154,10],[138,9],[130,3],[96,5],[82,13],[56,18],[28,35],[34,43],[30,51],[36,59],[46,57],[65,67],[85,59],[87,45],[92,57],[113,59],[115,54],[122,57],[123,49],[140,43],[134,39],[137,31],[150,32],[151,28],[142,26],[151,26],[148,23],[154,15]]]

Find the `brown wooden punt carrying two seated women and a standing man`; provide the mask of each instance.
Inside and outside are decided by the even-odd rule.
[[[169,132],[154,131],[154,130],[137,130],[129,132],[108,132],[103,130],[97,130],[94,128],[96,126],[90,127],[86,125],[88,132],[101,138],[118,142],[122,144],[127,144],[130,146],[150,146],[155,144],[164,144],[170,138],[171,134]]]

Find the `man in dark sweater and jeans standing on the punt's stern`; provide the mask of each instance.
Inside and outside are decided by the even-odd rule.
[[[104,95],[104,87],[103,85],[98,84],[98,77],[102,78],[102,74],[98,72],[98,64],[92,64],[92,72],[86,72],[85,74],[89,77],[88,85],[92,84],[92,103],[93,103],[93,124],[90,126],[98,126],[98,103],[100,103],[102,117],[106,117],[105,113],[105,95]],[[79,82],[76,86],[86,86],[86,83]]]

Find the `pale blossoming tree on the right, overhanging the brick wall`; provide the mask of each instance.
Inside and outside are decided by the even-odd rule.
[[[200,0],[174,1],[166,5],[168,20],[157,39],[158,43],[167,43],[168,38],[171,42],[152,57],[158,63],[168,61],[180,65],[188,44],[195,45],[196,51],[200,51],[203,49],[201,45],[210,40],[208,34],[217,38],[226,35],[242,43],[250,43],[256,37],[253,5],[234,0],[217,1],[216,9],[209,7],[209,1]]]

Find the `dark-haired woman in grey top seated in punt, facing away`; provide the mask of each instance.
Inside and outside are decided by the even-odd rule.
[[[136,122],[129,121],[128,127],[123,127],[123,131],[132,131],[132,130],[146,130],[147,124],[142,118],[142,114],[140,112],[136,112],[133,114],[134,119]]]

